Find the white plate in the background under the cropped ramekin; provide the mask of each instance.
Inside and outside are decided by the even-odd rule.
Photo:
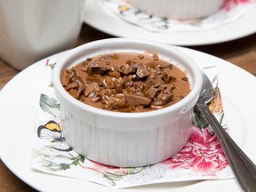
[[[244,14],[241,18],[220,25],[198,31],[182,32],[149,32],[146,29],[132,25],[114,12],[108,10],[96,0],[86,0],[84,6],[84,22],[93,28],[108,33],[112,36],[150,39],[164,44],[176,45],[202,45],[227,42],[256,32],[256,8]]]

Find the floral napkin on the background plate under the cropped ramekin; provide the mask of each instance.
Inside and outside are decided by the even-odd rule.
[[[151,32],[215,28],[238,19],[256,6],[256,0],[225,0],[219,12],[197,20],[171,20],[141,12],[124,0],[98,0],[121,19]]]

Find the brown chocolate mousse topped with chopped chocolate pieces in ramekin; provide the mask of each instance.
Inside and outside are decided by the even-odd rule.
[[[65,90],[95,108],[145,112],[182,100],[186,74],[157,53],[114,52],[88,58],[61,76]]]

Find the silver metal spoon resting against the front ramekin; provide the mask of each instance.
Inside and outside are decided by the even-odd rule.
[[[252,163],[252,160],[244,154],[241,148],[236,145],[235,141],[230,138],[206,105],[206,103],[212,100],[213,94],[212,83],[208,77],[204,75],[204,86],[200,93],[199,100],[196,102],[196,108],[204,114],[209,124],[211,124],[212,130],[218,136],[220,144],[241,188],[243,188],[244,191],[255,192],[256,166]]]

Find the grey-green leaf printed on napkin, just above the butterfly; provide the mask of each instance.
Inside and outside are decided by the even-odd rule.
[[[58,100],[51,98],[45,94],[40,96],[40,107],[44,112],[51,114],[56,117],[56,113],[60,111],[60,103]]]

